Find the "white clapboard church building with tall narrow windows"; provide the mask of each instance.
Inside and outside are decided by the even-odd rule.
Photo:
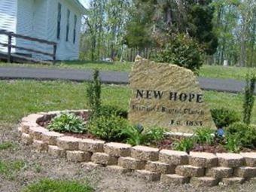
[[[78,0],[0,0],[0,30],[56,42],[57,60],[74,60],[79,56],[81,17],[86,9]],[[0,35],[0,43],[8,44],[8,36]],[[36,41],[13,38],[17,47],[52,52],[53,47]],[[0,51],[8,48],[1,46]],[[37,59],[49,59],[40,53],[12,48],[12,52]]]

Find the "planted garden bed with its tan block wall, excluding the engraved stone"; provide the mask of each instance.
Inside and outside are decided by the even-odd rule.
[[[126,111],[102,105],[100,93],[96,72],[87,87],[90,110],[24,117],[22,142],[54,157],[133,171],[149,181],[213,186],[256,177],[256,128],[250,116],[240,123],[236,112],[214,109],[217,130],[198,127],[194,134],[168,133],[158,126],[130,123]]]

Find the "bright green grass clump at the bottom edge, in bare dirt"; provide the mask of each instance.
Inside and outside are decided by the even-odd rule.
[[[42,179],[35,184],[29,184],[22,192],[91,192],[93,188],[78,181],[61,181]]]

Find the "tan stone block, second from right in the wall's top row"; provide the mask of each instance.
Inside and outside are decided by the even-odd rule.
[[[218,165],[225,167],[239,167],[243,166],[244,158],[240,154],[216,154],[218,157]]]

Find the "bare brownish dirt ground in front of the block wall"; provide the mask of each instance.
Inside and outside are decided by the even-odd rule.
[[[16,192],[20,191],[26,184],[40,180],[41,178],[75,179],[88,181],[96,191],[125,192],[125,191],[256,191],[256,179],[247,181],[242,185],[200,187],[196,188],[190,184],[184,185],[164,185],[160,181],[148,182],[141,178],[136,178],[133,172],[120,175],[117,172],[110,172],[106,168],[91,169],[82,166],[81,163],[71,163],[64,159],[54,159],[48,154],[40,154],[32,150],[29,146],[20,145],[20,136],[17,133],[17,125],[0,126],[0,143],[11,141],[15,147],[0,151],[0,160],[23,160],[26,166],[17,172],[14,179],[8,179],[0,174],[0,191]]]

